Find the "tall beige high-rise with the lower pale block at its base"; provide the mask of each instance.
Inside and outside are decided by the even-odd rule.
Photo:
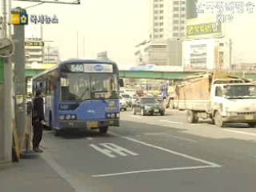
[[[189,2],[189,4],[187,4]],[[197,16],[196,0],[150,0],[150,38],[136,46],[138,65],[169,65],[167,42],[186,37],[186,18]],[[187,5],[190,5],[188,8]],[[179,64],[181,65],[181,63]],[[176,65],[177,66],[177,65]]]

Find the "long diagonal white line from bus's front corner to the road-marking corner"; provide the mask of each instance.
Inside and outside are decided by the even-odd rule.
[[[170,154],[176,154],[176,155],[181,156],[183,158],[189,158],[189,159],[192,159],[192,160],[194,160],[196,162],[202,162],[202,163],[205,163],[206,165],[209,165],[209,166],[221,167],[221,165],[218,165],[217,163],[209,162],[209,161],[206,161],[206,160],[204,160],[202,158],[195,158],[195,157],[192,157],[192,156],[190,156],[188,154],[182,154],[182,153],[179,153],[179,152],[174,151],[174,150],[169,150],[169,149],[166,149],[166,148],[164,148],[162,146],[154,146],[154,145],[152,145],[150,143],[142,142],[142,141],[139,141],[139,140],[134,139],[134,138],[125,137],[125,136],[122,136],[120,134],[115,134],[113,132],[110,132],[110,134],[113,134],[113,135],[121,137],[121,138],[125,138],[126,140],[129,140],[131,142],[137,142],[137,143],[142,144],[144,146],[150,146],[150,147],[152,147],[154,149],[162,150],[162,151],[165,151],[165,152],[170,153]]]

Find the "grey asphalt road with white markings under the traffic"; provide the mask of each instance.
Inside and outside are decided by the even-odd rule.
[[[121,118],[105,136],[46,131],[42,158],[76,192],[256,190],[256,128],[189,125],[173,110]]]

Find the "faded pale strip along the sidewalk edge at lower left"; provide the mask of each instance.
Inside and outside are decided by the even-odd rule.
[[[73,177],[70,174],[67,174],[66,171],[62,168],[62,166],[59,166],[58,163],[51,158],[49,152],[44,151],[44,153],[41,154],[40,156],[46,162],[46,164],[55,171],[56,174],[58,174],[61,178],[63,178],[67,183],[70,184],[70,186],[74,189],[75,192],[86,191],[86,188],[84,186],[80,185],[77,181],[74,181]]]

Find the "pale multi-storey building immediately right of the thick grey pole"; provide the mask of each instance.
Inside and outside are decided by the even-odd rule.
[[[25,40],[25,63],[26,68],[31,68],[33,63],[43,64],[44,42],[41,40]]]

